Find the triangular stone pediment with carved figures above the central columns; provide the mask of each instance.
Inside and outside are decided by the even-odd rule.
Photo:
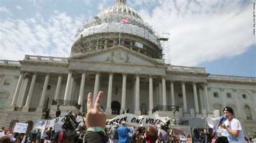
[[[72,56],[69,60],[81,60],[89,62],[111,62],[111,63],[131,63],[134,65],[157,66],[164,65],[156,59],[127,49],[123,46],[116,46],[100,51]]]

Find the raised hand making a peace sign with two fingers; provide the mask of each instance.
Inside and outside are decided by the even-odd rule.
[[[100,103],[102,102],[103,92],[99,91],[96,98],[94,107],[92,103],[93,95],[90,92],[87,97],[87,114],[86,114],[86,127],[96,127],[100,126],[105,128],[106,126],[106,113],[100,108]]]

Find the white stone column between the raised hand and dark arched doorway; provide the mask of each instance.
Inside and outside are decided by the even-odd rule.
[[[112,102],[112,85],[113,85],[113,72],[109,72],[109,89],[107,90],[107,107],[106,107],[106,114],[111,115],[112,110],[111,110],[111,102]]]

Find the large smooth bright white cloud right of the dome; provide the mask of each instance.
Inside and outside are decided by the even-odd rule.
[[[242,54],[254,44],[251,5],[232,1],[160,1],[140,16],[157,30],[170,32],[172,65],[196,66]],[[163,13],[165,13],[163,15]]]

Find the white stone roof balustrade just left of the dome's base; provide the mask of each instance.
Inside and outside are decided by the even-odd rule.
[[[68,62],[66,58],[53,56],[25,55],[24,60],[52,61],[52,62]]]

